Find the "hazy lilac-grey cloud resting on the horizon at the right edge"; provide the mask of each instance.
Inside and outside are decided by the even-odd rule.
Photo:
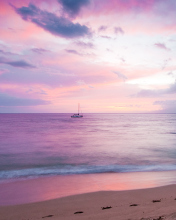
[[[176,100],[155,101],[153,105],[160,105],[161,113],[176,113]]]

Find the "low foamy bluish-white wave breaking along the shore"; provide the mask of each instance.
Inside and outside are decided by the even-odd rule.
[[[19,170],[0,171],[0,180],[30,178],[40,176],[98,174],[98,173],[127,173],[176,170],[173,165],[64,165],[42,168],[28,168]]]

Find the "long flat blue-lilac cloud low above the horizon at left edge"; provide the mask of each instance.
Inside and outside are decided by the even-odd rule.
[[[36,106],[36,105],[48,105],[49,101],[42,99],[24,99],[7,94],[0,94],[0,106]]]

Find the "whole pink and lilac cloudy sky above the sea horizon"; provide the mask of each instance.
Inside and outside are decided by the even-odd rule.
[[[176,113],[175,0],[0,0],[0,113]]]

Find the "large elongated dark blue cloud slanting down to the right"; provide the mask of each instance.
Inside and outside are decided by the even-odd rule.
[[[90,35],[90,30],[87,26],[80,25],[79,23],[74,24],[67,18],[58,17],[53,13],[42,11],[33,4],[29,4],[28,7],[12,7],[23,20],[30,21],[55,36],[76,38]]]

